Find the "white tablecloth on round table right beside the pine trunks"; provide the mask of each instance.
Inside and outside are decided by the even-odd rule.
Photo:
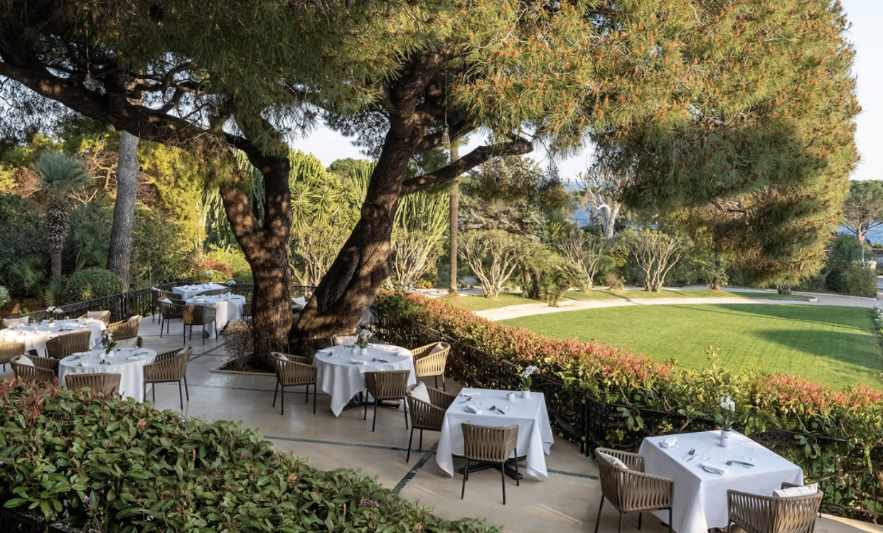
[[[389,363],[374,361],[374,358],[386,359]],[[365,364],[352,364],[352,360]],[[331,396],[331,412],[335,417],[340,416],[356,394],[365,392],[365,372],[409,370],[408,385],[417,383],[411,350],[390,344],[371,344],[364,356],[352,354],[350,346],[322,349],[316,353],[313,364],[317,369],[319,387]]]

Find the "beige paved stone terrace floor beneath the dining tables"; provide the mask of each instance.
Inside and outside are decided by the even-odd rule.
[[[171,326],[171,335],[159,336],[157,323],[149,318],[141,323],[140,334],[145,347],[164,351],[185,344],[180,324]],[[480,517],[498,524],[512,533],[576,533],[593,531],[598,512],[600,484],[595,463],[581,454],[577,447],[556,439],[552,454],[547,455],[549,477],[539,482],[525,477],[521,486],[506,478],[507,505],[502,505],[500,477],[495,470],[472,474],[466,484],[466,497],[460,499],[461,477],[449,477],[438,468],[434,445],[438,435],[426,432],[423,449],[411,454],[406,463],[405,448],[409,432],[404,428],[398,409],[379,409],[377,431],[371,432],[371,411],[362,420],[361,409],[343,411],[334,417],[328,396],[320,395],[313,415],[312,398],[304,402],[303,394],[286,394],[285,416],[279,404],[272,406],[275,378],[212,372],[223,363],[223,335],[219,341],[187,342],[193,356],[187,373],[190,402],[185,402],[185,415],[206,420],[241,421],[260,430],[279,449],[306,457],[321,469],[360,469],[377,477],[384,487],[399,492],[404,498],[434,507],[435,513],[449,519],[465,516]],[[431,385],[431,383],[429,384]],[[457,384],[448,382],[449,391],[457,392]],[[147,399],[150,399],[148,391]],[[179,409],[177,385],[156,387],[157,409]],[[417,446],[415,436],[414,445]],[[616,530],[617,514],[605,506],[600,531]],[[643,531],[666,531],[652,517],[644,521]],[[627,515],[623,531],[637,532],[638,517]],[[818,533],[859,533],[883,531],[864,522],[825,516],[816,528]]]

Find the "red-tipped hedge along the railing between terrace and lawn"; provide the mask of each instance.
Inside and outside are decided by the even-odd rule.
[[[480,318],[472,312],[418,294],[385,293],[377,299],[375,316],[379,322],[402,327],[419,323],[458,342],[485,352],[488,357],[509,361],[518,367],[535,365],[540,376],[560,380],[557,398],[547,394],[550,413],[578,409],[578,399],[588,395],[610,404],[625,406],[623,417],[633,432],[676,432],[670,425],[644,427],[644,420],[634,416],[638,409],[679,413],[688,418],[713,418],[721,411],[721,396],[734,410],[728,413],[739,431],[751,434],[768,430],[796,432],[786,454],[804,468],[808,478],[823,479],[826,503],[861,509],[868,516],[879,510],[864,494],[873,487],[872,473],[879,464],[872,461],[872,448],[883,443],[883,394],[859,384],[834,390],[796,376],[758,371],[732,372],[718,365],[715,350],[709,349],[709,365],[703,371],[657,363],[623,349],[599,342],[556,340],[535,334],[524,327],[510,327]],[[883,328],[883,312],[875,311],[877,324]],[[475,357],[472,357],[475,359]],[[493,366],[490,361],[458,359],[452,350],[451,363]],[[478,375],[478,372],[462,372]],[[464,379],[468,381],[469,379]],[[470,383],[465,383],[470,385]],[[517,374],[511,382],[498,380],[495,387],[517,387]],[[563,399],[562,399],[563,397]],[[578,442],[578,435],[567,434]],[[609,435],[610,444],[629,442],[624,432]],[[826,446],[819,442],[825,440]],[[831,444],[830,439],[842,439]],[[847,463],[858,457],[857,462]],[[876,460],[875,460],[876,461]],[[857,481],[857,475],[864,476]],[[832,475],[836,473],[836,475]],[[868,489],[871,490],[868,490]],[[883,487],[878,487],[879,492]],[[863,494],[864,492],[864,494]]]

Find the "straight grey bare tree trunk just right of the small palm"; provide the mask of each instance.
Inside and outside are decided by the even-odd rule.
[[[119,137],[117,158],[117,200],[110,227],[108,270],[123,280],[128,292],[132,259],[132,222],[135,218],[135,200],[138,197],[138,143],[140,139],[128,131]]]

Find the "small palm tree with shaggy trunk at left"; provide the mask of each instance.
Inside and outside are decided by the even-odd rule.
[[[46,203],[46,226],[49,230],[49,254],[52,277],[61,277],[61,251],[71,218],[70,194],[89,183],[83,163],[72,155],[54,150],[43,152],[34,164],[39,177],[37,186]]]

